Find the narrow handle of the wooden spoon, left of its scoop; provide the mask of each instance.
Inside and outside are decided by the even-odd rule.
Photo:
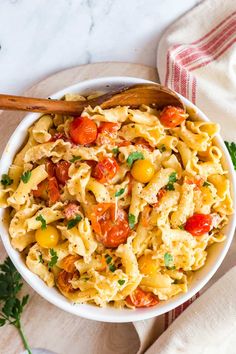
[[[43,98],[21,97],[0,94],[0,109],[40,113],[79,115],[86,101],[60,101]]]

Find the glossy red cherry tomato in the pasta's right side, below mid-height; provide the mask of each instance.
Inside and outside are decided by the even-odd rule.
[[[210,214],[194,214],[188,218],[185,230],[193,236],[201,236],[211,230],[212,216]]]

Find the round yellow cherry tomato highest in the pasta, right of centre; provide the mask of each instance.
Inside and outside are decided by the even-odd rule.
[[[137,160],[131,169],[131,175],[141,183],[149,182],[154,173],[154,166],[149,160]]]

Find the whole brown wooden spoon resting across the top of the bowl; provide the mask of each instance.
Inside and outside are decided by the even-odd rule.
[[[141,104],[162,108],[167,105],[184,108],[177,94],[159,84],[140,84],[122,87],[86,101],[63,101],[0,94],[0,109],[40,113],[58,113],[77,116],[85,107],[115,106],[139,107]]]

